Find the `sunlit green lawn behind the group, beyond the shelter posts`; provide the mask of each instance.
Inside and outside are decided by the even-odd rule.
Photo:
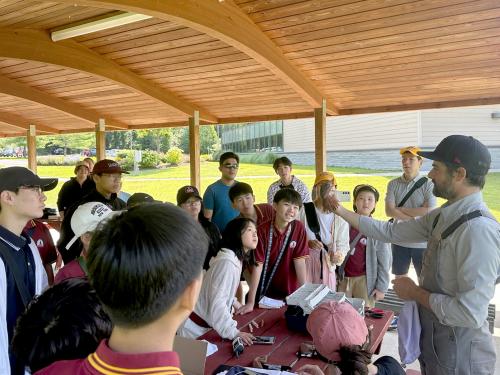
[[[375,173],[379,171],[366,169],[350,169],[350,168],[329,168],[330,171],[336,174],[342,173]],[[294,174],[297,174],[304,183],[311,187],[314,182],[314,167],[313,166],[294,166]],[[73,176],[73,167],[38,167],[40,176],[54,176],[68,178]],[[394,176],[399,172],[394,172]],[[218,171],[218,163],[204,162],[201,165],[201,191],[214,182],[220,176]],[[374,216],[379,219],[386,219],[384,214],[383,197],[386,193],[387,183],[394,176],[342,176],[338,175],[338,187],[340,190],[352,189],[357,184],[368,183],[375,186],[381,195],[381,201],[378,204]],[[165,179],[165,180],[157,180]],[[168,180],[167,180],[168,179]],[[271,165],[266,164],[242,164],[238,172],[238,180],[245,181],[252,185],[257,202],[265,202],[267,188],[277,179]],[[175,168],[163,170],[148,170],[141,171],[137,175],[127,175],[123,180],[123,190],[134,192],[145,192],[151,194],[154,198],[175,202],[177,190],[189,184],[189,165],[183,165]],[[500,219],[500,173],[491,173],[487,177],[486,187],[484,189],[484,198],[492,213]],[[47,192],[47,205],[55,207],[57,201],[57,193],[59,189]],[[443,200],[438,200],[439,204]],[[351,203],[346,203],[346,207],[351,207]]]

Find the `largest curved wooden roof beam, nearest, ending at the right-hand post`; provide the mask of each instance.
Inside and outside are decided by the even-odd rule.
[[[297,92],[311,109],[327,97],[285,57],[267,35],[231,0],[56,0],[81,6],[123,10],[173,21],[198,30],[244,52]],[[328,104],[327,112],[337,114]],[[191,112],[192,113],[192,112]],[[201,119],[202,116],[200,116]]]

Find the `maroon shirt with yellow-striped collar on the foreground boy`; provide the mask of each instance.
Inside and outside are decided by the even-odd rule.
[[[156,352],[143,354],[125,354],[111,350],[108,340],[99,344],[95,353],[85,359],[58,361],[35,375],[98,375],[98,374],[134,374],[134,375],[182,375],[179,356],[176,352]]]

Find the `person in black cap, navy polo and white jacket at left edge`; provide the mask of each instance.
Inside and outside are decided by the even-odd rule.
[[[43,216],[43,192],[56,185],[57,179],[40,178],[27,168],[0,169],[0,374],[24,374],[24,364],[10,351],[14,326],[48,283],[37,246],[23,228]]]

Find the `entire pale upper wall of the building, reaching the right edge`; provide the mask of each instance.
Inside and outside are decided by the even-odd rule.
[[[328,151],[398,149],[408,145],[434,148],[450,134],[476,137],[500,146],[500,105],[375,113],[327,118]],[[314,119],[283,122],[284,152],[314,152]]]

